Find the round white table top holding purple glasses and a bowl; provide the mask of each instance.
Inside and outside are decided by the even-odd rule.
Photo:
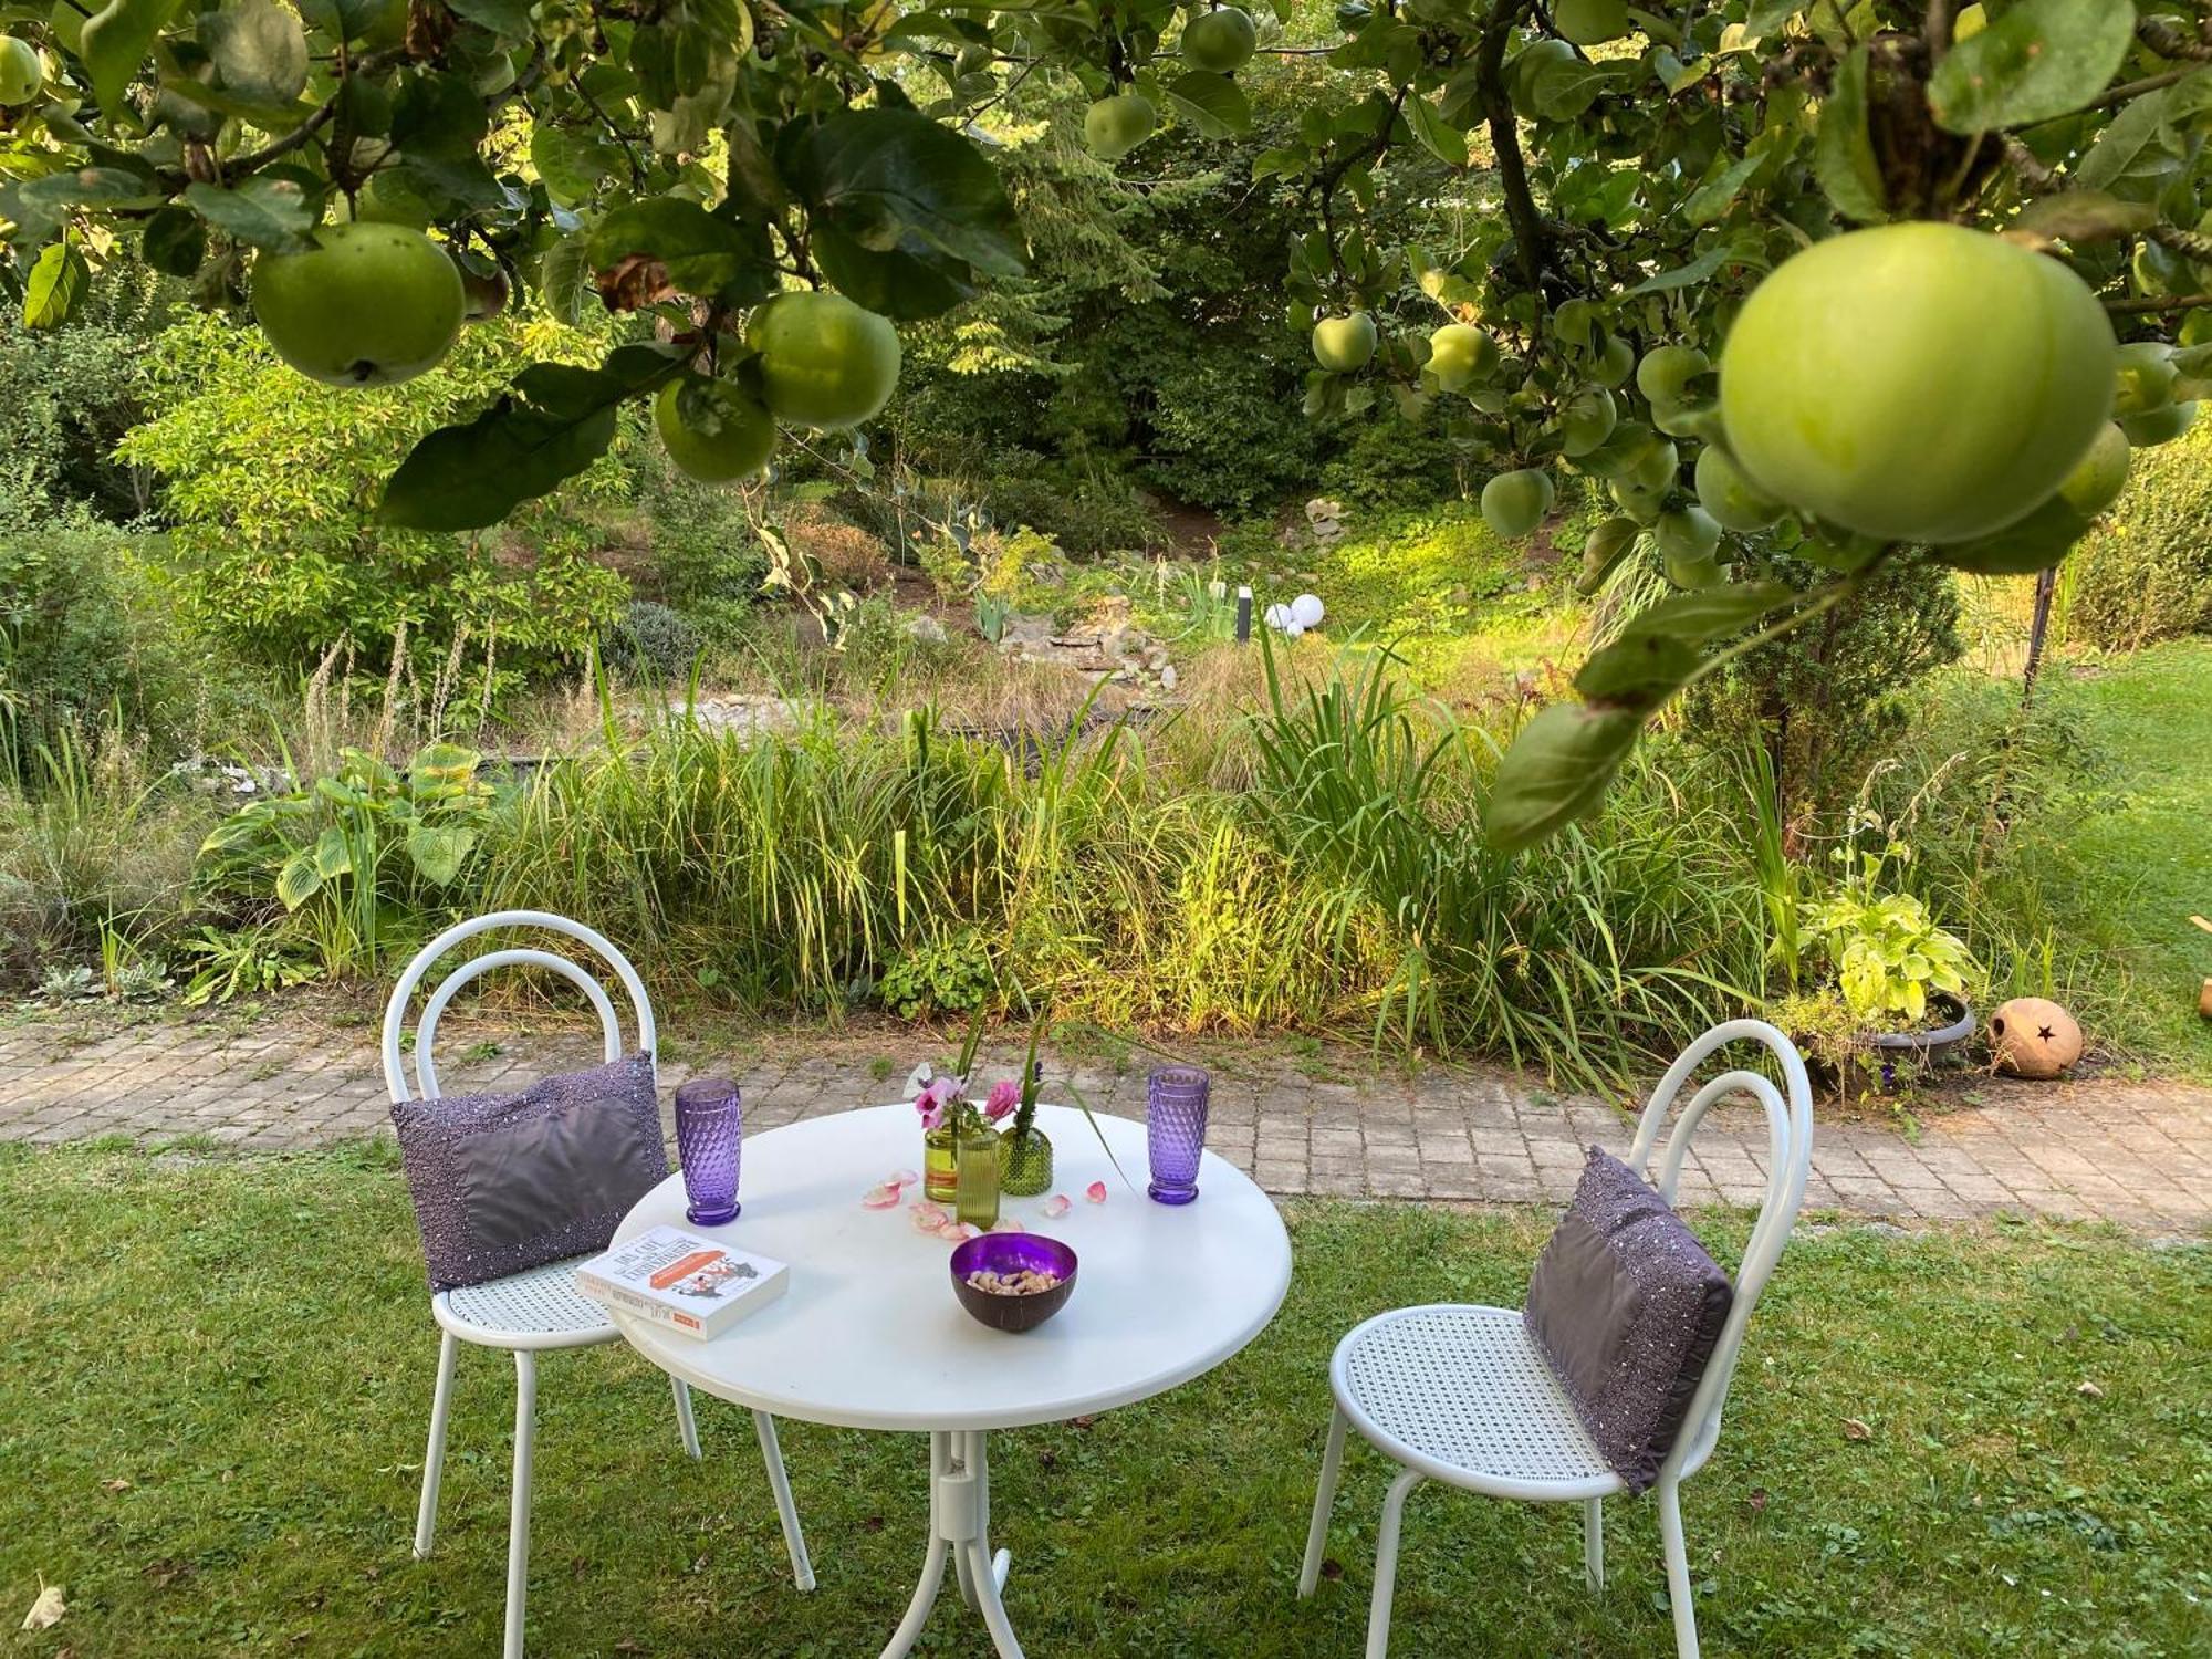
[[[1015,1429],[1144,1400],[1210,1371],[1259,1336],[1290,1290],[1290,1234],[1237,1166],[1206,1155],[1199,1197],[1172,1208],[1144,1192],[1144,1126],[1097,1115],[1121,1170],[1079,1110],[1040,1106],[1053,1188],[1002,1199],[1000,1219],[1075,1250],[1075,1292],[1044,1325],[993,1332],[953,1296],[951,1245],[907,1212],[860,1194],[918,1170],[914,1106],[869,1106],[748,1135],[737,1221],[684,1219],[684,1177],[637,1201],[615,1239],[690,1228],[790,1263],[790,1285],[712,1340],[613,1312],[646,1358],[697,1389],[757,1411],[845,1429]],[[1086,1188],[1106,1183],[1106,1201]],[[1046,1219],[1055,1192],[1073,1199]]]

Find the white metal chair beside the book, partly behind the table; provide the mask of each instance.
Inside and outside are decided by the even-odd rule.
[[[440,956],[465,940],[498,929],[562,933],[597,951],[628,993],[637,1022],[635,1046],[624,1048],[615,1004],[595,973],[577,967],[566,956],[544,949],[487,951],[453,969],[425,1000],[414,1042],[416,1095],[409,1095],[400,1060],[400,1037],[416,989]],[[648,1057],[659,1055],[653,1004],[646,1000],[644,980],[637,978],[637,969],[630,967],[622,951],[608,945],[604,936],[582,922],[571,922],[566,916],[509,909],[449,927],[422,947],[414,962],[407,964],[407,971],[400,973],[400,982],[392,987],[392,1002],[385,1004],[383,1051],[385,1086],[392,1091],[394,1104],[416,1097],[438,1099],[438,1062],[434,1055],[438,1020],[465,984],[498,967],[538,967],[575,984],[599,1013],[608,1060],[619,1060],[624,1053],[635,1051],[644,1051]],[[613,1343],[619,1336],[606,1312],[575,1287],[577,1261],[546,1263],[544,1267],[531,1267],[482,1285],[438,1292],[429,1298],[431,1318],[438,1321],[445,1338],[438,1345],[438,1391],[431,1396],[429,1407],[429,1451],[422,1455],[422,1509],[416,1515],[416,1557],[429,1555],[438,1524],[438,1480],[445,1471],[445,1420],[453,1396],[453,1356],[458,1354],[458,1345],[502,1347],[515,1356],[515,1489],[507,1533],[507,1659],[522,1659],[522,1606],[529,1590],[531,1555],[531,1440],[538,1411],[538,1354],[555,1347]],[[697,1458],[699,1429],[692,1422],[690,1389],[681,1380],[670,1378],[670,1383],[675,1385],[677,1427],[684,1433],[684,1451]],[[807,1544],[799,1531],[792,1486],[783,1475],[783,1453],[776,1449],[776,1420],[765,1411],[754,1411],[752,1427],[761,1440],[761,1458],[768,1462],[768,1484],[774,1491],[776,1515],[783,1522],[783,1542],[792,1553],[792,1573],[801,1590],[812,1590],[814,1568],[807,1564]]]

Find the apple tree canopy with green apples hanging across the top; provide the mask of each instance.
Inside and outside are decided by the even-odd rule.
[[[1442,429],[1491,473],[1500,533],[1577,473],[1619,507],[1586,580],[1641,546],[1679,588],[1522,730],[1486,807],[1502,847],[1595,805],[1686,684],[1876,571],[2057,562],[2130,447],[2212,387],[2203,0],[1279,13],[0,4],[0,279],[58,327],[139,259],[361,385],[515,290],[637,314],[597,365],[518,365],[385,484],[392,524],[473,529],[591,467],[633,398],[748,465],[765,416],[872,418],[898,372],[878,319],[1024,274],[1004,124],[1040,88],[1079,86],[1086,142],[1139,188],[1150,153],[1250,128],[1261,64],[1312,62],[1296,133],[1254,166],[1305,223],[1254,281],[1314,330],[1307,411],[1391,398]],[[1380,184],[1438,170],[1482,170],[1495,212],[1462,246],[1394,241]],[[1743,538],[1825,584],[1732,580]]]

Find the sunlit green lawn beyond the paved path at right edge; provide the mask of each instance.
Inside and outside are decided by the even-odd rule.
[[[2212,639],[2177,639],[2088,677],[2046,681],[2095,779],[2053,801],[2035,858],[2062,931],[2124,967],[2132,1046],[2212,1075],[2212,1022],[2197,987],[2212,975]]]

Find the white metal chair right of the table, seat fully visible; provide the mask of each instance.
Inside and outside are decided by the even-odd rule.
[[[1659,1130],[1690,1073],[1730,1042],[1763,1042],[1781,1062],[1787,1099],[1756,1071],[1728,1071],[1690,1097],[1657,1159],[1659,1194],[1672,1203],[1683,1155],[1705,1110],[1730,1095],[1750,1095],[1767,1110],[1767,1197],[1736,1267],[1734,1303],[1712,1360],[1690,1398],[1681,1438],[1659,1464],[1659,1537],[1666,1544],[1668,1599],[1674,1606],[1679,1659],[1697,1659],[1697,1615],[1690,1606],[1690,1555],[1681,1537],[1679,1486],[1712,1455],[1721,1438],[1721,1407],[1743,1347],[1759,1292],[1783,1252],[1805,1177],[1812,1168],[1812,1084],[1805,1062],[1763,1020],[1730,1020],[1692,1042],[1659,1079],[1637,1126],[1628,1166],[1646,1170]],[[1376,1314],[1336,1345],[1329,1360],[1336,1413],[1321,1460],[1314,1524],[1305,1537],[1298,1595],[1312,1595],[1329,1537],[1329,1506],[1345,1458],[1345,1429],[1358,1429],[1378,1451],[1405,1464],[1383,1500],[1376,1537],[1376,1584],[1367,1610],[1367,1659],[1389,1650],[1389,1606],[1398,1577],[1398,1533],[1405,1500],[1422,1480],[1442,1480],[1493,1498],[1533,1498],[1582,1504],[1582,1553],[1590,1588],[1606,1582],[1604,1500],[1626,1491],[1606,1464],[1544,1356],[1522,1327],[1520,1310],[1429,1305]]]

